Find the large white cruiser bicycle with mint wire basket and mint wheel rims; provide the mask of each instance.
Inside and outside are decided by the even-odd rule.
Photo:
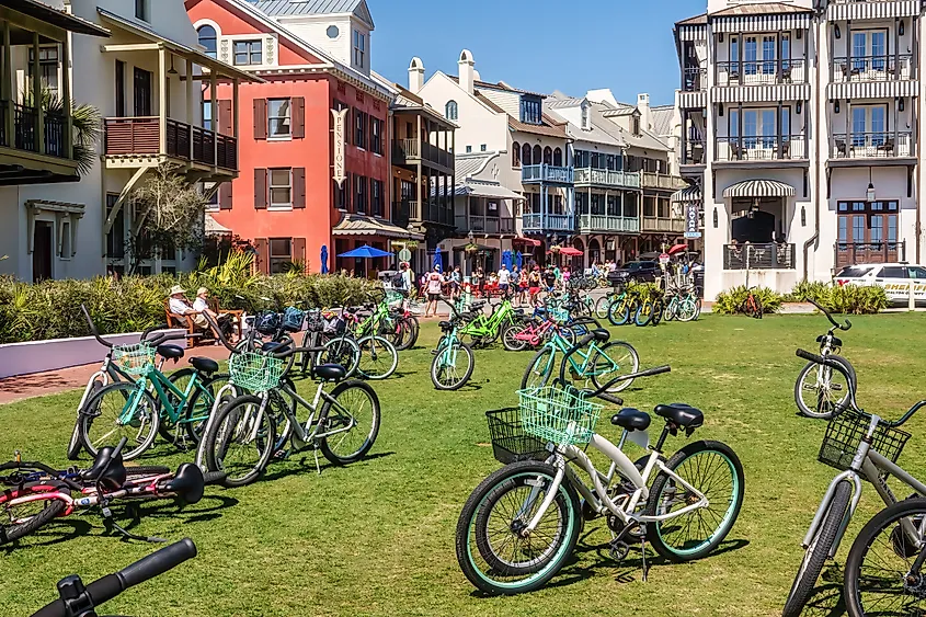
[[[670,435],[684,431],[690,436],[704,425],[699,410],[681,403],[656,405],[654,412],[665,426],[652,447],[647,434],[651,418],[636,409],[622,409],[611,418],[625,431],[620,445],[595,431],[603,405],[591,399],[620,405],[619,398],[606,393],[617,381],[670,370],[663,366],[617,376],[597,390],[568,386],[569,356],[593,340],[606,342],[608,335],[596,330],[569,350],[552,386],[518,391],[519,425],[528,438],[523,444],[541,447],[529,453],[530,459],[491,473],[462,507],[456,528],[457,561],[470,583],[484,593],[510,595],[546,585],[574,550],[584,517],[606,518],[611,557],[617,560],[629,553],[631,541],[640,544],[643,580],[647,540],[671,561],[690,561],[712,552],[736,521],[744,476],[729,446],[694,442],[667,460],[663,455]],[[620,449],[628,438],[650,450],[641,468]],[[610,460],[607,475],[595,468],[585,454],[587,446]],[[572,466],[587,473],[591,488]],[[710,521],[717,522],[716,527],[705,524],[708,509],[713,509]]]

